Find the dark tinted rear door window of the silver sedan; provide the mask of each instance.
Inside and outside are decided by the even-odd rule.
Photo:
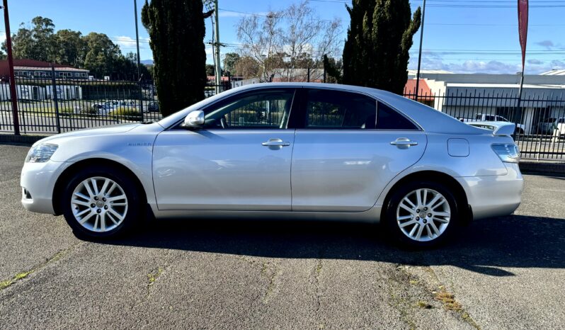
[[[357,93],[307,91],[307,128],[375,128],[375,99]]]

